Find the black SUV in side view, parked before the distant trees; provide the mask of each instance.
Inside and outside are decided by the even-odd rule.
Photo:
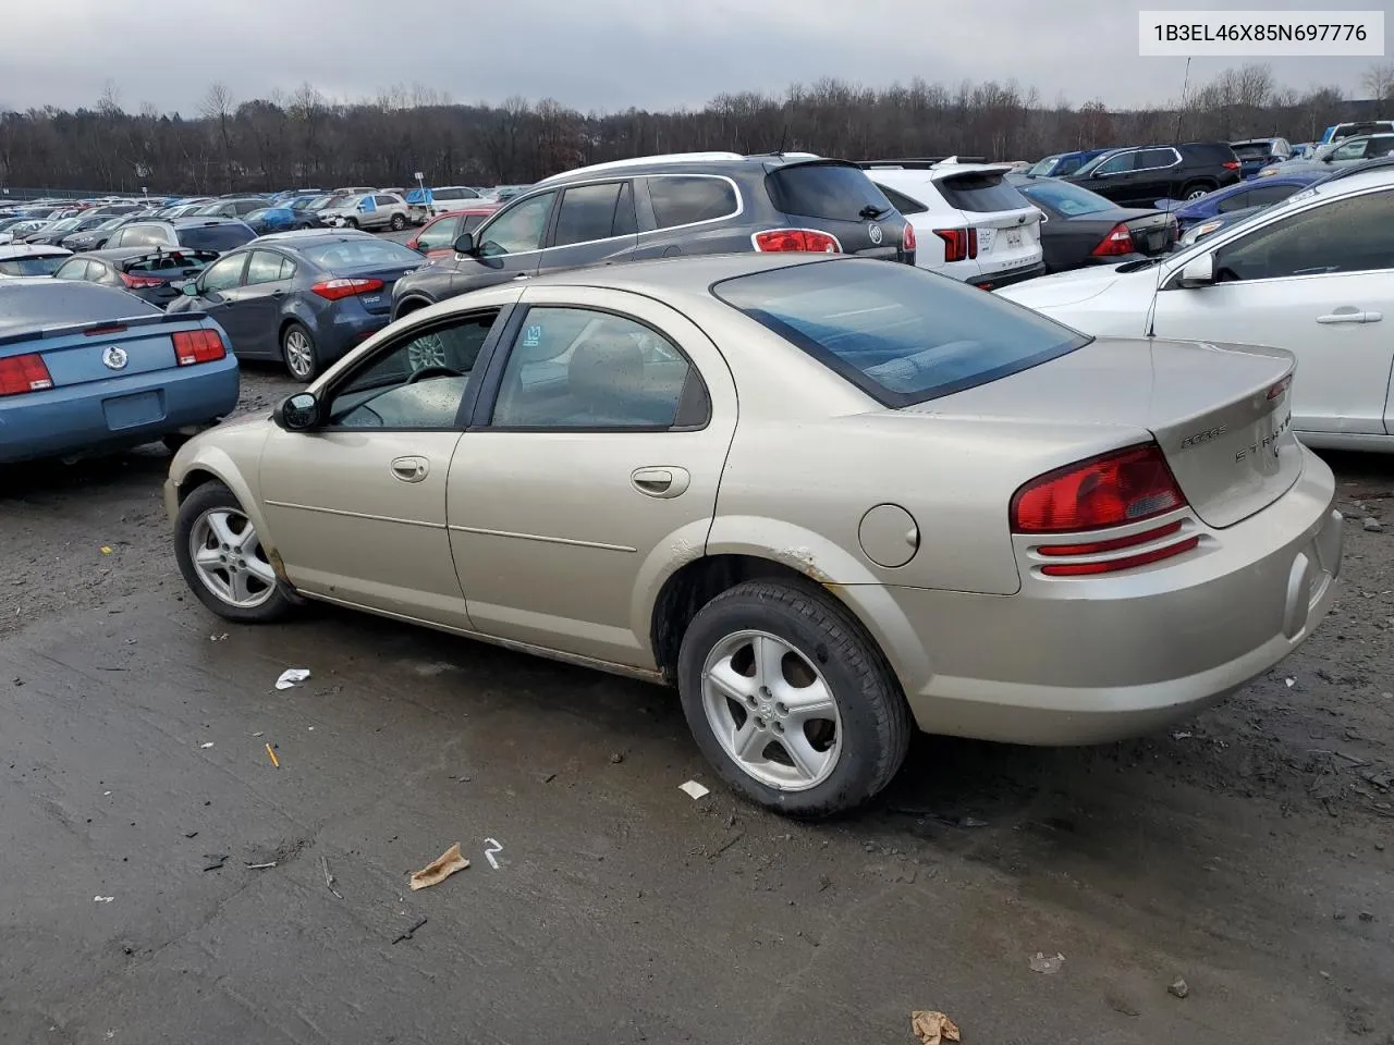
[[[1157,199],[1195,199],[1239,180],[1239,157],[1228,142],[1140,145],[1096,156],[1065,181],[1125,206]]]

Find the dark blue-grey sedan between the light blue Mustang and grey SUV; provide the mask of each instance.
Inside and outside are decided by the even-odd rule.
[[[368,233],[275,233],[209,265],[169,311],[205,312],[240,357],[280,359],[293,378],[312,380],[388,325],[393,284],[422,265],[415,251]]]

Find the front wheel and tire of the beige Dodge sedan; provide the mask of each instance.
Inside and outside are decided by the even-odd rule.
[[[180,504],[174,557],[198,601],[226,620],[263,624],[294,606],[251,517],[220,482],[199,486]]]

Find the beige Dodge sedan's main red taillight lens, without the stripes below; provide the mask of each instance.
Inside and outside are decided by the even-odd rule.
[[[1156,443],[1118,450],[1032,479],[1012,495],[1018,534],[1072,534],[1118,527],[1185,507]]]

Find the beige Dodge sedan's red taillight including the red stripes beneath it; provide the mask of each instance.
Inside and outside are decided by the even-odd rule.
[[[1048,562],[1040,567],[1047,577],[1086,577],[1170,559],[1200,543],[1199,535],[1182,534],[1184,520],[1124,536],[1100,535],[1080,541],[1079,534],[1140,522],[1186,506],[1161,447],[1156,443],[1093,457],[1032,479],[1012,496],[1011,524],[1016,534],[1068,535],[1058,543],[1041,543],[1033,550]],[[1167,542],[1157,546],[1157,542]],[[1153,545],[1143,548],[1144,545]],[[1129,548],[1132,555],[1111,555]],[[1111,555],[1108,559],[1082,557]],[[1062,562],[1072,559],[1075,562]]]

